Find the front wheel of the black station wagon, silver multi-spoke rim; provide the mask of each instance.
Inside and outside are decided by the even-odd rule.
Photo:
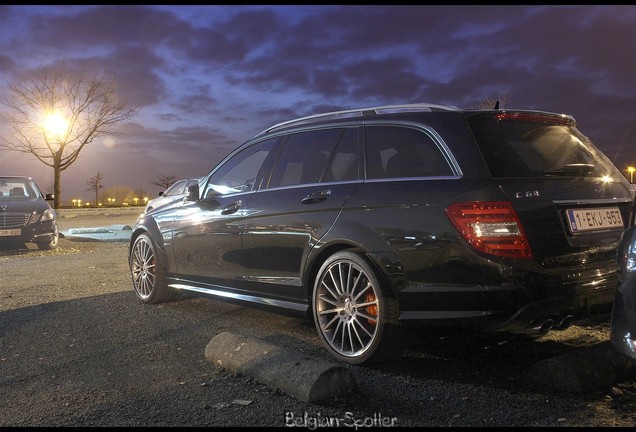
[[[175,296],[166,282],[166,265],[147,233],[135,239],[128,257],[135,294],[144,303],[163,303]]]

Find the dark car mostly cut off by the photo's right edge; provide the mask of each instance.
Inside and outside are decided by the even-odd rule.
[[[636,360],[636,225],[623,234],[616,257],[620,273],[610,320],[610,340],[616,350]]]

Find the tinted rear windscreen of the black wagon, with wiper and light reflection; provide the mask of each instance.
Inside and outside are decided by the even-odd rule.
[[[573,123],[550,116],[481,115],[468,119],[493,177],[600,177],[611,162]]]

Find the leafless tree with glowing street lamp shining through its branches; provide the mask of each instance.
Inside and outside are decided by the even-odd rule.
[[[117,96],[113,79],[73,73],[60,64],[42,66],[33,78],[9,86],[0,101],[9,108],[0,148],[30,153],[53,168],[54,207],[60,208],[62,171],[100,136],[120,135],[113,126],[134,116]]]

